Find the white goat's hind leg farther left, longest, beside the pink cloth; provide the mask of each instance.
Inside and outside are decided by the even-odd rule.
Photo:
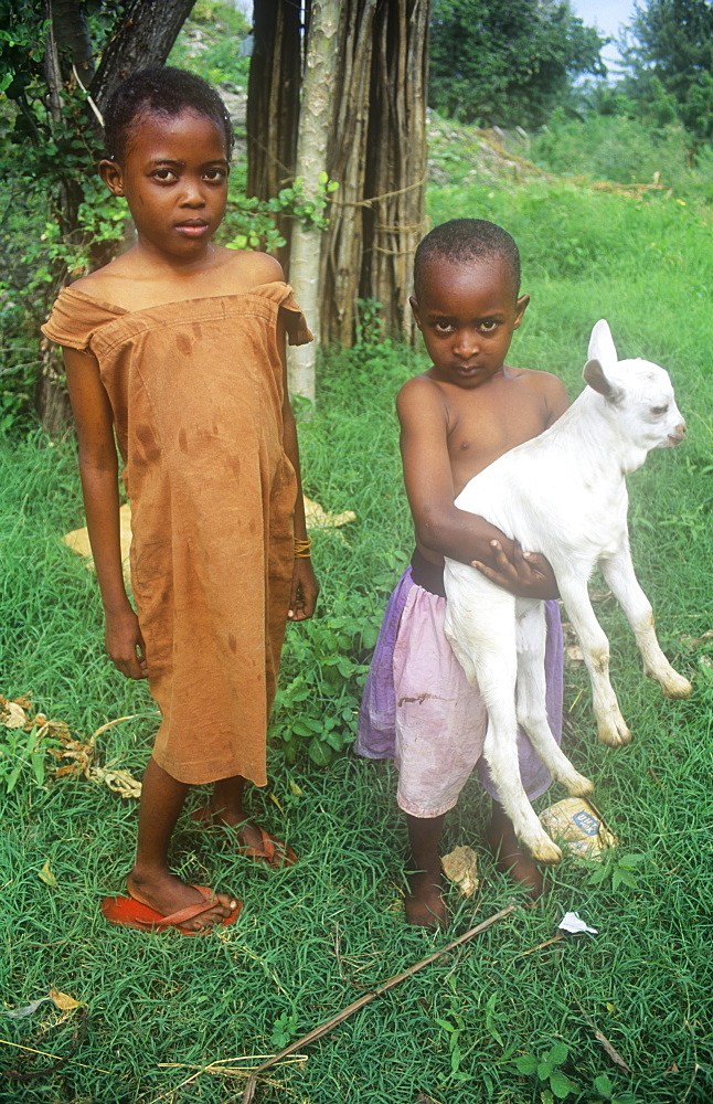
[[[562,852],[540,824],[520,778],[514,597],[459,564],[446,573],[446,636],[488,710],[483,754],[500,803],[533,858],[558,862]]]

